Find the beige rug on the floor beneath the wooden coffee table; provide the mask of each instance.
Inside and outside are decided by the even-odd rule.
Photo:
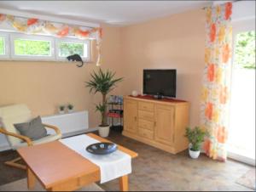
[[[20,179],[18,181],[9,183],[9,184],[4,184],[0,186],[0,191],[28,191],[26,187],[26,178]],[[35,189],[32,191],[45,191],[41,184],[36,182]],[[90,184],[85,186],[82,189],[79,189],[78,191],[104,191],[102,188],[100,188],[96,184]]]

